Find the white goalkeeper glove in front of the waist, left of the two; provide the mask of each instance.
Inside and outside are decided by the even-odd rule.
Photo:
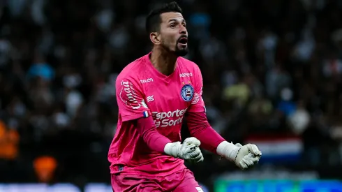
[[[203,155],[200,150],[200,140],[196,138],[186,138],[183,144],[181,142],[168,143],[164,147],[165,154],[181,158],[193,163],[203,161]]]

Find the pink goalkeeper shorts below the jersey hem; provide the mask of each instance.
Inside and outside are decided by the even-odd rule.
[[[114,192],[198,192],[201,189],[188,169],[165,177],[112,174],[111,183]]]

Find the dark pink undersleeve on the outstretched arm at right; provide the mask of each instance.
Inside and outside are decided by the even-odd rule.
[[[186,121],[191,136],[198,138],[203,149],[216,154],[217,146],[225,141],[208,123],[205,112],[188,112]]]

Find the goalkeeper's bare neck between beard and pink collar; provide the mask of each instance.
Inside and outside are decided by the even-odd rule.
[[[162,47],[154,47],[150,59],[154,68],[164,75],[171,75],[176,69],[177,55]]]

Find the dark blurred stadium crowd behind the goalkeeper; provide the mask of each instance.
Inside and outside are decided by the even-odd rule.
[[[162,2],[0,1],[1,182],[109,181],[114,82],[151,50],[144,19]],[[202,70],[216,131],[234,142],[299,137],[298,165],[342,164],[342,1],[179,5],[190,38],[186,58]],[[195,175],[222,170],[227,163],[217,159],[208,154]]]

